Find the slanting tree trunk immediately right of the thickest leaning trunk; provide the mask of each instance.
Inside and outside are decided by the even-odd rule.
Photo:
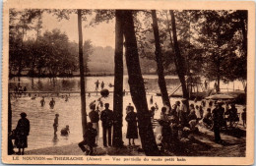
[[[166,88],[166,83],[163,75],[163,66],[162,66],[162,53],[160,50],[160,32],[159,32],[159,25],[158,25],[158,18],[156,10],[152,10],[152,21],[153,21],[153,30],[155,36],[155,46],[156,46],[156,61],[158,65],[158,75],[159,75],[159,85],[160,85],[160,93],[161,93],[161,100],[163,105],[167,105],[170,108],[168,92]]]

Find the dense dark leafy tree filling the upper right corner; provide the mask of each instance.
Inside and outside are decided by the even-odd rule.
[[[204,49],[204,73],[220,82],[246,80],[247,11],[201,11],[198,41]],[[246,85],[245,85],[246,86]]]

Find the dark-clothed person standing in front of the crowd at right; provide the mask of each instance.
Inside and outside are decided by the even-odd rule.
[[[223,102],[218,101],[216,103],[216,108],[212,112],[212,117],[214,121],[213,129],[215,133],[216,142],[220,142],[222,140],[220,135],[221,127],[224,123],[224,107],[222,105],[223,105]]]

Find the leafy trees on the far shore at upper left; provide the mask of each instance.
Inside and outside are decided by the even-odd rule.
[[[71,42],[60,29],[44,31],[42,11],[10,11],[9,71],[12,76],[56,77],[73,76],[79,69],[78,43]],[[28,33],[35,37],[27,37]],[[85,71],[93,52],[90,40],[83,44]],[[23,73],[23,71],[26,71]]]

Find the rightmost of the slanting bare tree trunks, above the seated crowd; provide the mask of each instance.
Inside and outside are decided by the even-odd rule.
[[[178,74],[179,81],[182,86],[182,91],[183,91],[183,97],[188,99],[188,91],[186,87],[186,81],[185,81],[185,65],[182,62],[182,57],[180,54],[179,46],[178,46],[178,40],[177,40],[177,33],[176,33],[176,24],[175,24],[175,17],[174,13],[172,10],[169,11],[170,17],[171,17],[171,26],[172,26],[172,36],[173,36],[173,45],[174,45],[174,52],[175,52],[175,66],[176,66],[176,71]]]

